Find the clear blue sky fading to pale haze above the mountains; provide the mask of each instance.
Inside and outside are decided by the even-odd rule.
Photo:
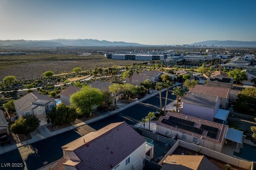
[[[256,41],[256,0],[0,0],[0,40]]]

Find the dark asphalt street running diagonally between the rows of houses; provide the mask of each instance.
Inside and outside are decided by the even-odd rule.
[[[165,103],[166,91],[162,92],[162,105]],[[168,93],[168,103],[176,99],[172,92]],[[160,107],[159,94],[133,105],[119,113],[116,113],[100,121],[90,123],[89,126],[98,130],[110,123],[125,121],[128,125],[135,125],[145,118],[149,112],[156,112]],[[88,126],[88,125],[85,125]],[[36,170],[44,166],[44,163],[51,163],[63,156],[62,146],[81,137],[77,129],[40,140],[38,142],[22,146],[18,149],[0,155],[0,169],[8,170]],[[22,165],[22,167],[6,167]],[[14,164],[12,164],[14,163]],[[15,164],[20,163],[20,164]],[[46,164],[47,164],[46,163]]]

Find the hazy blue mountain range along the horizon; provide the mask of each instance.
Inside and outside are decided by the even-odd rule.
[[[206,45],[208,47],[222,46],[222,47],[256,47],[256,41],[219,41],[209,40],[204,42],[196,42],[189,45]],[[56,40],[0,40],[0,46],[13,47],[61,47],[61,46],[146,46],[140,43],[128,42],[110,42],[106,40],[92,40],[92,39],[56,39]],[[152,46],[152,45],[150,45]]]

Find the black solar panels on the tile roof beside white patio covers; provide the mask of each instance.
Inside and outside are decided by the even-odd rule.
[[[203,131],[206,130],[207,131],[206,136],[214,139],[216,139],[216,136],[218,133],[218,128],[210,127],[207,125],[201,125],[200,128],[196,128],[194,127],[194,124],[195,124],[194,122],[180,119],[177,117],[172,117],[172,116],[170,116],[169,119],[162,119],[162,123],[173,126],[173,127],[181,128],[184,130],[188,130],[191,132],[195,132],[200,135],[202,135]]]

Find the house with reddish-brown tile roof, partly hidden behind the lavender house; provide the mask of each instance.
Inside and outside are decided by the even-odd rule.
[[[228,100],[230,95],[229,88],[196,85],[190,89],[190,92],[218,96],[220,98],[220,109],[228,109]]]

